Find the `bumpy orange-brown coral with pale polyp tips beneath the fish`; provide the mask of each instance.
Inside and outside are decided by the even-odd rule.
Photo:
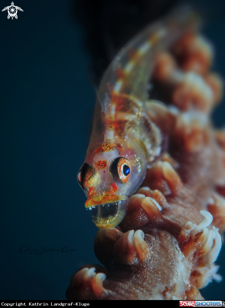
[[[170,104],[149,100],[148,116],[167,152],[130,197],[119,227],[96,233],[94,251],[105,267],[78,270],[67,299],[195,300],[212,279],[220,281],[214,262],[225,229],[225,134],[209,117],[222,92],[211,61],[196,33],[157,55],[152,80]]]

